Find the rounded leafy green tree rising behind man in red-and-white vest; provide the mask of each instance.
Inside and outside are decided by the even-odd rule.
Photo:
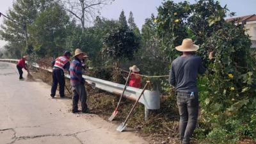
[[[69,17],[59,4],[52,4],[29,26],[33,50],[39,56],[58,56],[65,51]]]

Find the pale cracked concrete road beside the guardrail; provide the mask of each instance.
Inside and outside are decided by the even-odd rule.
[[[97,115],[68,112],[70,99],[51,99],[49,85],[18,77],[15,65],[0,62],[0,144],[147,143]]]

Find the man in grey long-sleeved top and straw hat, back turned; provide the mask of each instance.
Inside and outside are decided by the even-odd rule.
[[[182,45],[176,49],[183,54],[172,62],[169,83],[175,86],[177,92],[180,141],[182,144],[189,144],[198,118],[199,102],[196,77],[198,74],[204,74],[205,68],[201,58],[193,54],[199,47],[194,45],[190,38],[184,39]]]

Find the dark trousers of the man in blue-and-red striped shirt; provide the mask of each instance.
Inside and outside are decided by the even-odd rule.
[[[77,109],[78,109],[77,104],[80,99],[81,106],[82,106],[82,112],[86,112],[88,107],[86,104],[87,94],[86,94],[84,84],[78,84],[76,86],[72,86],[72,91],[74,93],[73,99],[72,99],[72,102],[73,102],[72,111],[77,111]]]

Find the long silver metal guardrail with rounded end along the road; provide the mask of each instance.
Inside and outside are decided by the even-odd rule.
[[[17,61],[19,60],[0,59],[0,61],[17,63]],[[47,70],[49,72],[52,72],[51,68],[39,67],[37,63],[33,63],[32,66],[35,68],[40,68],[42,70]],[[68,74],[65,74],[65,76],[70,79],[70,76]],[[89,84],[94,83],[95,88],[99,88],[100,90],[104,90],[109,93],[115,93],[115,94],[121,95],[124,89],[124,84],[113,83],[111,81],[105,81],[105,80],[97,79],[95,77],[90,77],[90,76],[83,75],[83,77],[87,83]],[[124,97],[127,99],[136,100],[140,96],[141,92],[142,92],[142,89],[140,88],[133,88],[131,86],[127,86],[124,93]],[[149,114],[148,112],[150,109],[160,108],[160,93],[158,91],[145,90],[145,92],[143,93],[143,97],[141,97],[139,102],[145,106],[145,120],[147,120],[148,114]]]

